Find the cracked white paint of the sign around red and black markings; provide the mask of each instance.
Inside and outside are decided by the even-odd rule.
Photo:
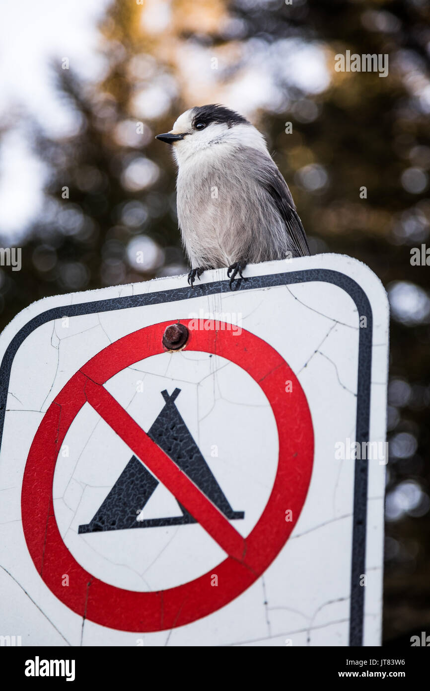
[[[249,271],[253,276],[270,276],[309,267],[329,267],[355,277],[373,301],[371,439],[384,440],[387,310],[373,274],[347,258],[326,256],[270,263]],[[208,274],[206,280],[218,276],[224,278],[218,271]],[[335,460],[334,446],[355,439],[357,307],[342,287],[297,281],[252,290],[246,290],[245,283],[235,293],[200,295],[196,290],[179,301],[68,317],[68,306],[84,300],[148,295],[151,290],[174,291],[182,285],[179,277],[61,296],[48,299],[46,307],[42,303],[47,301],[36,303],[29,308],[35,311],[28,315],[21,313],[19,325],[46,309],[58,306],[63,310],[63,316],[41,323],[19,346],[8,383],[0,451],[0,583],[10,598],[3,598],[1,604],[1,621],[8,631],[0,633],[15,632],[22,621],[19,612],[26,612],[26,632],[16,631],[26,645],[136,645],[137,634],[108,629],[85,615],[77,616],[41,583],[21,525],[23,471],[44,413],[88,359],[139,328],[188,319],[202,308],[213,314],[240,313],[242,327],[288,361],[311,409],[314,471],[291,538],[264,574],[209,616],[172,630],[142,634],[145,645],[286,645],[286,639],[293,645],[348,645],[354,464]],[[17,330],[18,324],[14,328],[12,323],[3,334],[3,352]],[[37,364],[35,352],[40,354]],[[271,406],[240,367],[217,354],[187,352],[186,348],[139,361],[106,383],[110,395],[144,430],[162,410],[162,390],[171,394],[175,388],[181,390],[177,409],[204,460],[231,507],[244,511],[244,520],[231,524],[246,537],[262,514],[276,473],[278,441]],[[79,534],[79,525],[88,524],[132,455],[95,410],[84,404],[63,439],[53,485],[59,531],[74,558],[93,577],[135,592],[175,587],[216,567],[224,552],[199,524]],[[368,533],[379,541],[380,549],[373,548],[371,560],[366,562],[367,645],[378,645],[380,637],[383,487],[384,465],[369,462]],[[144,513],[139,508],[134,509],[137,519],[144,515],[157,518],[174,515],[177,502],[159,484]]]

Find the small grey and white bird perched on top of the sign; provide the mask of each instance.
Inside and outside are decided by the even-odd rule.
[[[157,139],[173,145],[177,162],[190,285],[206,269],[228,267],[232,287],[247,263],[309,254],[291,192],[263,135],[242,115],[217,104],[190,108]]]

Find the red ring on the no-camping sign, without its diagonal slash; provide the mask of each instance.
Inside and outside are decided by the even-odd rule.
[[[194,321],[194,324],[191,322]],[[21,512],[28,550],[43,581],[73,612],[116,630],[151,632],[191,623],[224,607],[267,569],[289,538],[302,511],[313,466],[313,426],[304,391],[279,353],[242,329],[220,322],[208,330],[190,328],[186,350],[209,352],[237,364],[259,384],[277,424],[279,459],[273,489],[260,520],[246,539],[242,560],[228,556],[207,574],[164,591],[136,592],[92,576],[64,544],[52,502],[52,483],[61,444],[86,402],[88,379],[104,384],[135,362],[166,352],[162,345],[171,322],[153,324],[115,341],[92,357],[52,401],[33,439],[23,475]],[[193,328],[194,326],[194,328]],[[85,373],[84,373],[85,372]],[[287,382],[291,386],[286,386]],[[240,430],[243,433],[244,430]],[[286,520],[291,510],[292,520]],[[68,575],[69,585],[63,586]],[[218,587],[211,587],[211,575]]]

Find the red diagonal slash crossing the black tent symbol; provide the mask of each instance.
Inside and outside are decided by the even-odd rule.
[[[148,437],[104,386],[88,379],[85,393],[92,408],[97,410],[104,421],[134,451],[141,463],[144,463],[151,473],[167,487],[211,538],[217,541],[219,547],[222,547],[231,557],[243,562],[246,552],[244,538],[188,475],[183,473],[173,460]]]

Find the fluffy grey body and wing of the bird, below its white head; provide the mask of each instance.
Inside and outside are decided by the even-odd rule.
[[[242,147],[196,160],[177,179],[177,211],[193,267],[309,254],[291,193],[270,156]]]

